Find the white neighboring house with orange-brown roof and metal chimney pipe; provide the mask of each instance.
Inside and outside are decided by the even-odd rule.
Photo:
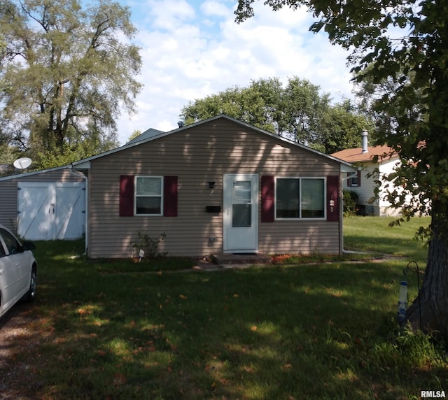
[[[396,166],[400,165],[398,153],[385,145],[367,145],[367,131],[363,131],[363,146],[360,148],[350,148],[332,154],[358,167],[356,174],[347,175],[344,179],[344,190],[353,190],[358,193],[359,213],[363,215],[397,215],[400,210],[391,208],[384,196],[386,189],[384,185],[379,186],[379,195],[375,197],[374,189],[378,186],[376,180],[385,182],[384,176],[393,172]],[[374,157],[377,161],[374,162]]]

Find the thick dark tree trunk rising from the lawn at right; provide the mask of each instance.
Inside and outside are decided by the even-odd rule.
[[[448,206],[433,201],[432,236],[419,296],[406,317],[414,329],[442,336],[448,345]]]

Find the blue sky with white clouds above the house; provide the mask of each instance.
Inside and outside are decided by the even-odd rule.
[[[255,2],[255,17],[235,22],[232,0],[120,0],[138,29],[132,43],[142,58],[137,80],[144,84],[137,113],[118,120],[118,141],[154,128],[178,127],[189,101],[251,80],[297,76],[319,85],[333,101],[352,96],[348,53],[330,45],[325,33],[312,34],[304,9],[272,11]]]

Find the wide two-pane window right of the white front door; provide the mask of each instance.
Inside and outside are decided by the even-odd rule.
[[[276,218],[324,218],[325,179],[276,178]]]

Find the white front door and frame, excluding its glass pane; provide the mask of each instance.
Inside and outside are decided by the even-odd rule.
[[[235,182],[251,182],[251,227],[232,227],[232,188]],[[258,251],[258,173],[226,173],[223,176],[223,252]]]

